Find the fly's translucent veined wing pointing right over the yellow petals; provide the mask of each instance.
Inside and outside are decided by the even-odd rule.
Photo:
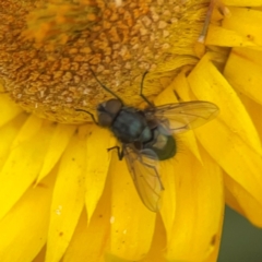
[[[218,107],[213,103],[198,100],[148,108],[145,109],[145,117],[154,117],[172,133],[180,133],[211,121],[218,112]]]

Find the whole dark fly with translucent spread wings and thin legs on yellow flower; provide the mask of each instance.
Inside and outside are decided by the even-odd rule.
[[[204,124],[218,114],[218,108],[201,100],[154,106],[142,93],[147,72],[141,82],[140,96],[148,107],[143,110],[129,107],[92,73],[115,98],[97,106],[98,120],[84,109],[75,110],[88,114],[96,124],[110,129],[121,147],[114,146],[108,151],[116,148],[119,159],[126,158],[141,200],[148,210],[157,212],[164,190],[158,162],[176,155],[177,145],[172,134]]]

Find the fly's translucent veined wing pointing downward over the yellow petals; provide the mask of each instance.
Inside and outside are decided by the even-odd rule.
[[[158,159],[154,151],[138,151],[132,145],[123,145],[123,154],[136,191],[144,205],[157,212],[164,187],[158,174]]]

